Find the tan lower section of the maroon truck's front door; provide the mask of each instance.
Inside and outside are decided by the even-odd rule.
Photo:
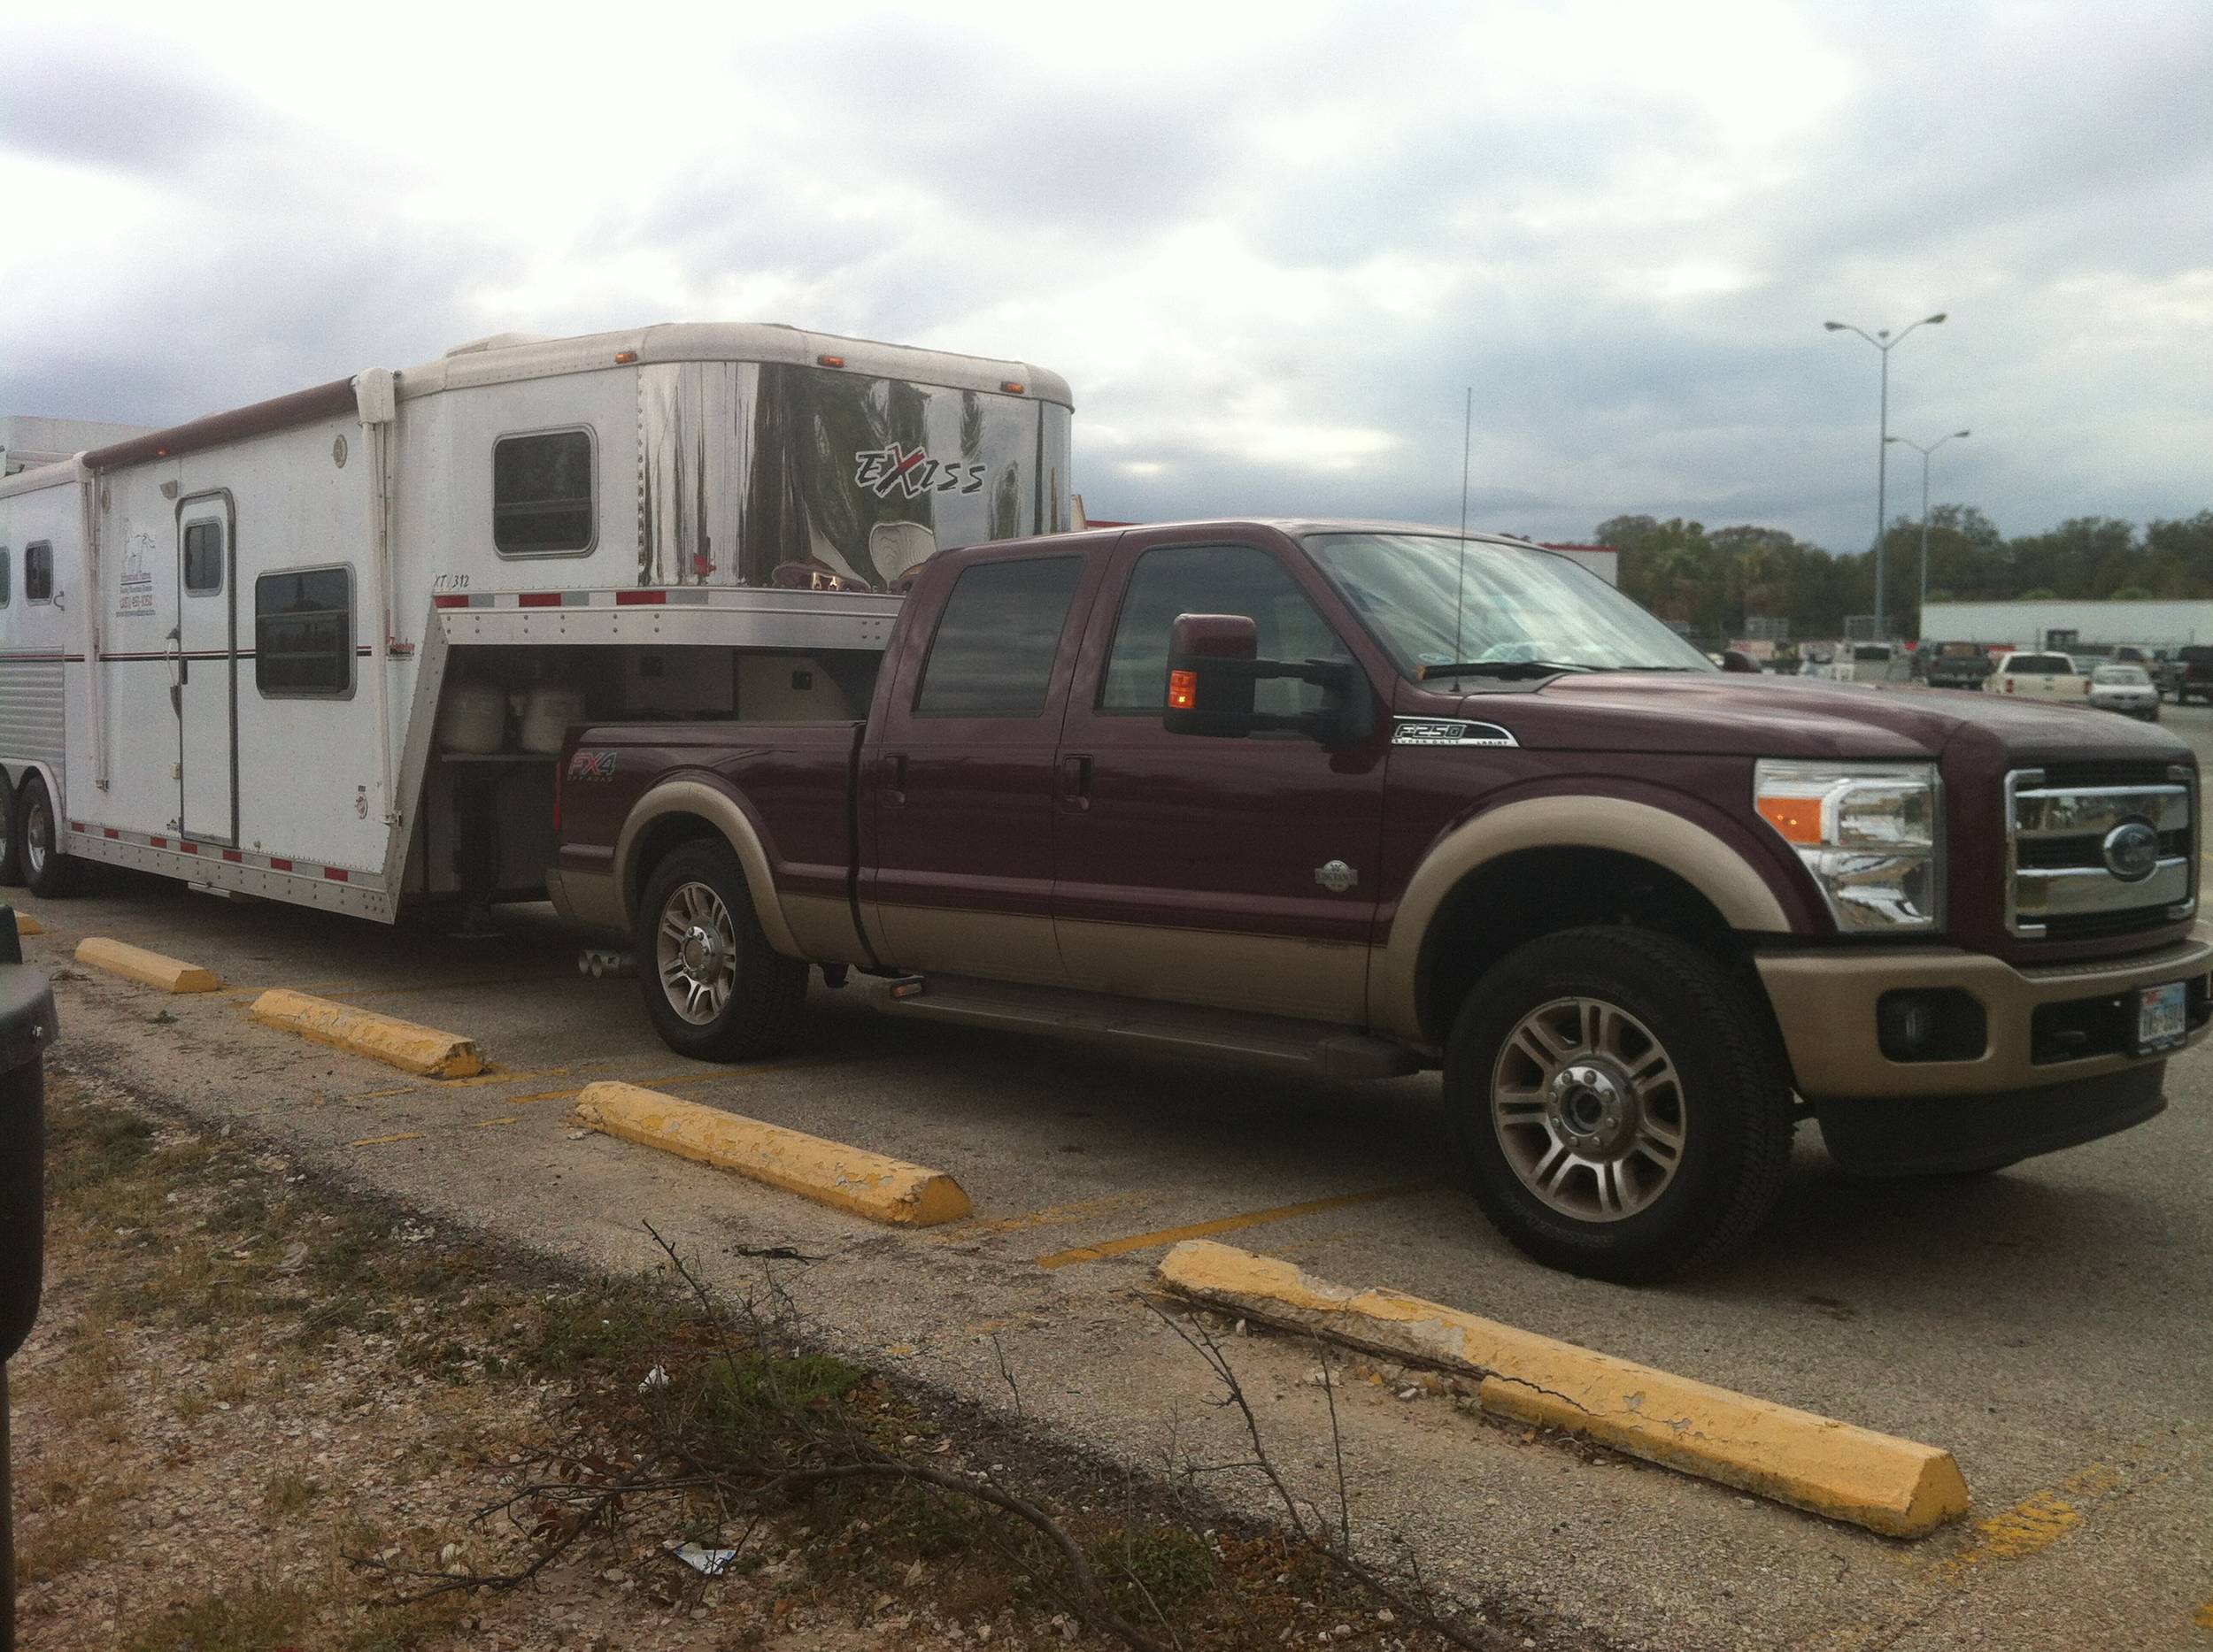
[[[1219,929],[1060,922],[1069,980],[1093,993],[1361,1026],[1368,947]]]

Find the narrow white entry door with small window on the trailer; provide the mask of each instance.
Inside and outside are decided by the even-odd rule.
[[[177,509],[177,829],[239,840],[239,597],[228,493]]]

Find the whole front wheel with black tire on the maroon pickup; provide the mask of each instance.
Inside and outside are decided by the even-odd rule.
[[[1562,1057],[1551,1084],[1527,1044],[1509,1055],[1507,1039],[1525,1022],[1571,1017],[1585,1028],[1582,1004],[1611,1008],[1629,1024],[1627,1055],[1600,1053],[1589,1064]],[[1545,1022],[1554,1035],[1565,1024]],[[1635,1075],[1651,1073],[1640,1035],[1662,1062],[1660,1075],[1646,1079],[1655,1088],[1635,1084]],[[1600,1046],[1604,1037],[1591,1039],[1593,1050]],[[1514,1088],[1494,1097],[1498,1077],[1538,1081],[1527,1088],[1529,1101],[1514,1104]],[[1494,964],[1452,1026],[1445,1104],[1476,1203],[1498,1232],[1547,1267],[1618,1285],[1669,1278],[1748,1238],[1781,1194],[1795,1126],[1788,1068],[1753,993],[1695,947],[1638,929],[1569,929]],[[1520,1121],[1498,1123],[1494,1110]],[[1589,1110],[1598,1123],[1585,1117]],[[1589,1159],[1567,1152],[1562,1130],[1578,1117],[1593,1130],[1578,1137]],[[1658,1152],[1669,1132],[1673,1168]],[[1554,1170],[1551,1192],[1525,1181],[1562,1157],[1571,1163]],[[1609,1181],[1618,1214],[1562,1207],[1604,1205]]]

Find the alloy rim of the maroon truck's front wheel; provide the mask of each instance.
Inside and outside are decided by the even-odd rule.
[[[1492,1068],[1492,1128],[1523,1185],[1576,1221],[1620,1221],[1675,1179],[1682,1079],[1635,1015],[1556,997],[1514,1024]]]

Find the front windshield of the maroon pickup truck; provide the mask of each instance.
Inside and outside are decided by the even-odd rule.
[[[1516,661],[1715,668],[1596,573],[1549,551],[1430,533],[1315,533],[1306,553],[1414,679]]]

